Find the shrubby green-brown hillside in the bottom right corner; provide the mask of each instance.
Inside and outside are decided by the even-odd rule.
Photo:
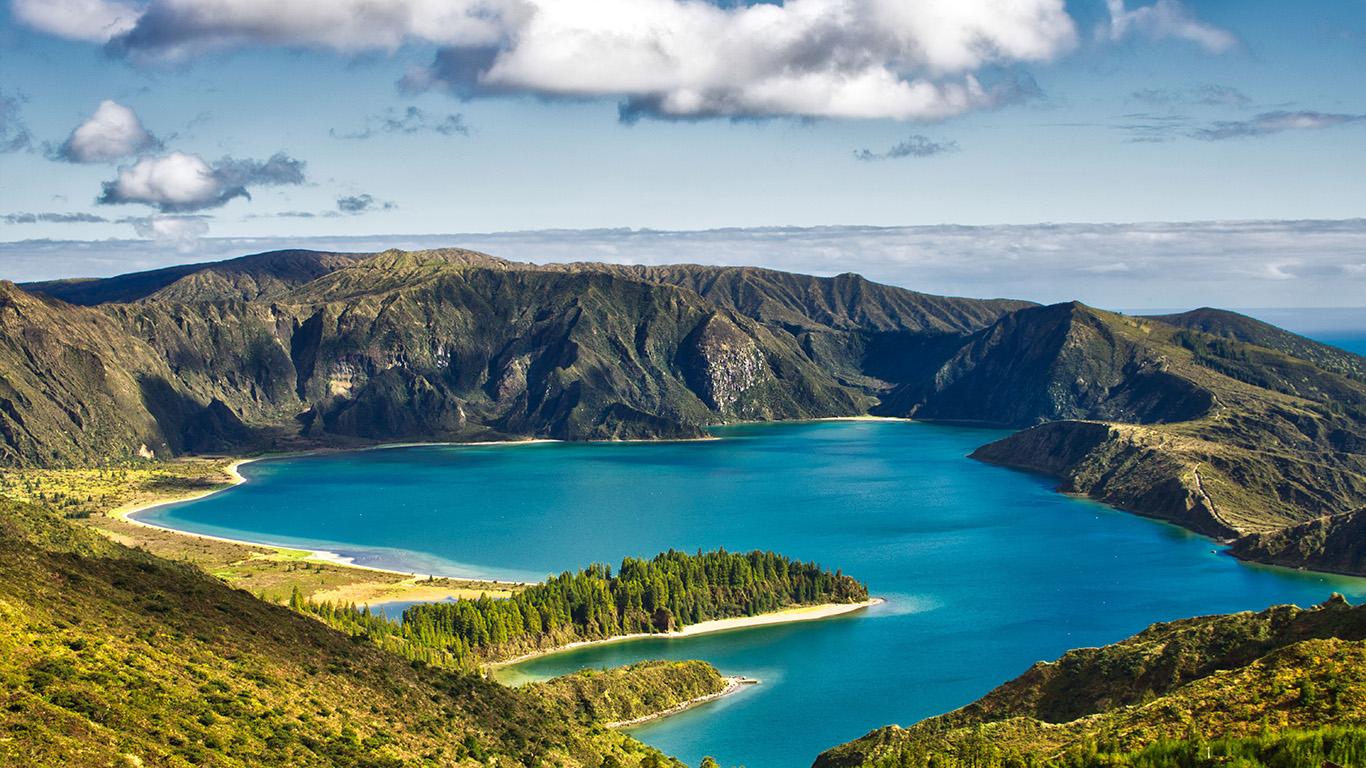
[[[835,748],[818,768],[1127,764],[1162,739],[1366,735],[1366,607],[1202,616],[1041,661],[974,704]],[[1322,739],[1320,739],[1322,743]],[[1109,760],[1097,760],[1105,745]],[[1161,763],[1154,763],[1161,764]],[[1251,763],[1258,765],[1258,763]]]

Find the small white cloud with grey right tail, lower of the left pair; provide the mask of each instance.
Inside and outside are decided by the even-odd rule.
[[[204,210],[234,198],[250,198],[247,187],[302,184],[303,167],[302,160],[283,152],[264,161],[224,157],[213,165],[198,154],[172,152],[120,167],[117,178],[104,183],[104,194],[96,202],[142,204],[163,213]]]

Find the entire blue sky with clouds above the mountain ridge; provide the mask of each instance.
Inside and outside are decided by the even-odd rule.
[[[7,0],[0,279],[273,247],[1366,306],[1366,3]]]

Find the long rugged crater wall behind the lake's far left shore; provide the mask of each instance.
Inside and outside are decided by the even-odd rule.
[[[876,318],[884,335],[917,328],[951,335],[1014,306],[852,279],[697,268],[693,283],[713,290],[724,283],[728,297],[753,280],[750,294],[761,298],[746,305],[751,316],[682,284],[691,271],[538,268],[462,250],[281,251],[87,282],[79,297],[41,286],[92,302],[138,298],[71,312],[16,298],[49,316],[18,316],[10,335],[23,339],[30,327],[55,327],[67,316],[102,316],[111,327],[105,336],[122,328],[133,351],[113,351],[111,342],[94,351],[85,344],[82,354],[98,357],[101,369],[142,395],[119,403],[120,420],[131,424],[96,450],[75,451],[63,439],[72,425],[52,417],[27,443],[11,444],[10,461],[89,461],[142,444],[164,456],[505,433],[695,437],[702,425],[729,420],[850,415],[866,411],[870,392],[887,385],[862,372],[873,332],[856,323]],[[768,294],[775,298],[762,298]],[[820,329],[825,354],[813,353],[821,344],[811,331],[798,336],[761,320],[764,307],[777,303],[784,317],[818,316],[802,324]],[[22,350],[12,350],[0,372],[20,370],[22,359]],[[60,400],[41,391],[41,381],[29,384],[31,402]],[[15,414],[33,421],[26,407],[20,402]]]

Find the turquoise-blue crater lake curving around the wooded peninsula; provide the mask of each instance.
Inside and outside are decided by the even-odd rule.
[[[887,723],[963,705],[1040,659],[1156,620],[1307,605],[1366,579],[1244,566],[1206,538],[964,456],[1003,433],[915,422],[717,429],[699,443],[422,447],[258,462],[250,482],[145,515],[421,573],[540,578],[661,549],[765,548],[888,599],[824,622],[604,645],[520,678],[706,659],[762,685],[637,728],[695,765],[810,765]]]

